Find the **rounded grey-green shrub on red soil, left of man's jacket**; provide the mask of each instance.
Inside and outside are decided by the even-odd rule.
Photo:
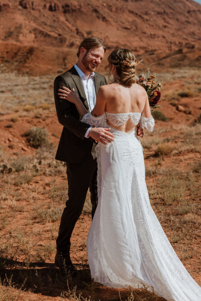
[[[38,148],[49,144],[49,134],[46,129],[40,127],[30,128],[24,133],[30,146]]]

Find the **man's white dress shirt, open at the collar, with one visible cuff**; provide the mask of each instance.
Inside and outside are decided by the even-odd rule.
[[[96,104],[96,91],[95,91],[95,84],[94,84],[94,75],[95,73],[92,72],[90,77],[88,78],[87,75],[85,75],[82,70],[80,70],[79,67],[77,67],[77,64],[74,64],[74,67],[77,71],[77,73],[80,76],[83,88],[84,88],[84,92],[86,95],[86,99],[87,99],[87,103],[89,106],[89,110],[90,112],[93,110],[93,108],[95,107]],[[89,129],[86,131],[84,137],[85,138],[89,138],[88,133],[90,131],[90,129],[92,128],[92,126],[89,127]]]

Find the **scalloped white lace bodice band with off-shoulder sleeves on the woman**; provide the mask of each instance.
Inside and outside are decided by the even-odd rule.
[[[127,123],[128,120],[130,120],[132,126],[137,126],[137,124],[140,123],[143,129],[149,132],[153,131],[153,117],[146,118],[139,112],[108,113],[105,111],[101,116],[93,116],[91,113],[86,113],[82,118],[82,122],[88,123],[90,126],[103,128],[108,127],[108,125],[115,127],[122,126],[124,123]]]

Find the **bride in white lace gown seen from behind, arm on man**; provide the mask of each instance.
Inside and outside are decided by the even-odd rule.
[[[75,92],[64,87],[59,93],[76,105],[83,122],[110,128],[115,137],[112,142],[102,138],[96,146],[98,206],[86,244],[91,276],[108,287],[153,287],[168,301],[199,301],[201,288],[176,255],[149,202],[136,125],[152,132],[154,119],[147,93],[135,81],[137,63],[130,50],[111,52],[108,67],[114,82],[99,88],[91,113]]]

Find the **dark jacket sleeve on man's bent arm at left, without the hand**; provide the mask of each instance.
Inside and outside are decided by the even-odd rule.
[[[71,103],[59,98],[58,89],[62,89],[62,86],[70,88],[63,76],[57,76],[54,82],[54,97],[58,121],[65,128],[84,140],[84,135],[90,125],[76,119],[71,113]]]

